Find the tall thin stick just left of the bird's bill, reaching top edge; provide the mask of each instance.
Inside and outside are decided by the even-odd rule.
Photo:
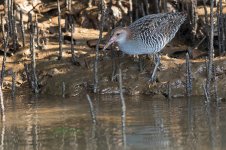
[[[99,39],[97,41],[96,45],[96,58],[94,62],[94,87],[93,87],[93,92],[97,93],[98,91],[98,62],[99,62],[99,45],[100,41],[102,39],[102,33],[103,33],[103,25],[104,25],[104,15],[105,15],[105,4],[103,0],[100,0],[100,5],[101,5],[101,23],[100,23],[100,34],[99,34]]]

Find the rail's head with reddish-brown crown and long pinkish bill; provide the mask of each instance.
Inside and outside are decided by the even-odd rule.
[[[128,36],[129,36],[129,32],[128,32],[128,29],[126,27],[124,27],[124,28],[118,27],[118,28],[114,29],[112,34],[111,34],[110,40],[104,46],[103,50],[108,48],[113,43],[123,44],[124,42],[126,42]]]

